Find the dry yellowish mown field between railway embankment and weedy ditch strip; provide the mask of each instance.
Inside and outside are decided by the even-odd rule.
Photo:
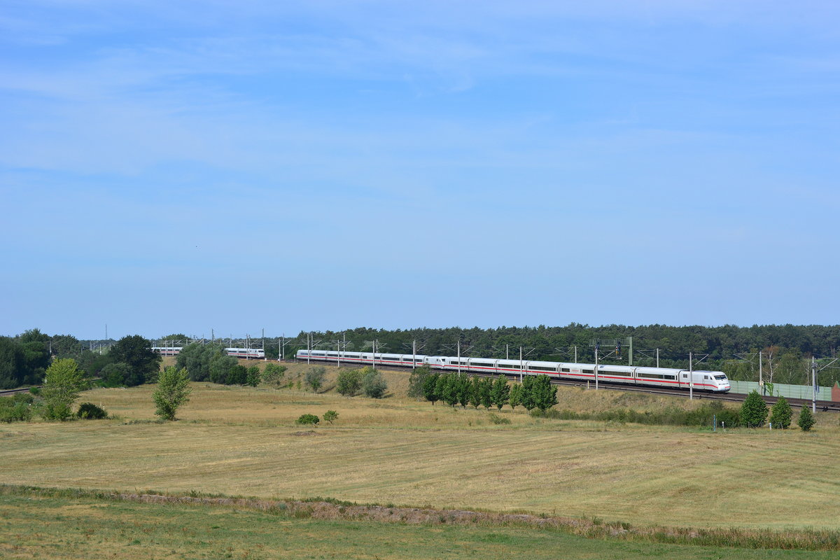
[[[383,400],[195,384],[181,421],[166,424],[152,421],[149,386],[92,390],[81,400],[120,419],[0,427],[0,482],[323,495],[634,526],[840,526],[836,416],[818,415],[811,433],[549,421],[509,410],[500,416],[512,423],[496,426],[486,411],[408,400],[407,374],[386,377],[392,391]],[[559,399],[579,410],[674,403],[580,389]],[[333,426],[293,423],[328,409],[339,412]]]

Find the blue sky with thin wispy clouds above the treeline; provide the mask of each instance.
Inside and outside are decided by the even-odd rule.
[[[837,324],[838,16],[7,0],[0,334]]]

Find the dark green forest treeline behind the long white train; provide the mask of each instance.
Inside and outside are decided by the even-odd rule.
[[[342,332],[314,332],[318,348],[339,348],[346,340],[348,351],[370,350],[371,342],[384,353],[417,353],[455,355],[460,342],[461,355],[503,359],[519,358],[523,348],[526,359],[571,362],[575,349],[579,362],[595,359],[594,340],[600,340],[600,361],[604,364],[627,364],[629,348],[626,338],[633,337],[633,364],[655,366],[659,349],[659,365],[664,368],[689,367],[689,353],[703,359],[694,369],[726,372],[731,379],[757,380],[759,351],[762,353],[764,379],[775,383],[807,385],[810,383],[811,356],[822,367],[837,356],[840,348],[840,325],[755,325],[753,327],[669,327],[645,325],[628,327],[606,325],[591,327],[571,323],[565,327],[498,327],[498,328],[415,328],[387,330],[359,327]],[[621,347],[612,343],[619,339]],[[506,347],[507,345],[507,347]],[[576,347],[576,348],[575,348]],[[301,332],[294,344],[286,346],[286,358],[293,358],[299,348],[307,348],[307,332]],[[266,354],[271,355],[266,343]],[[745,359],[739,358],[738,354]],[[276,346],[274,346],[276,356]],[[705,357],[705,358],[704,358]],[[832,365],[840,365],[838,363]],[[820,385],[833,385],[840,379],[840,369],[828,367],[819,374]]]

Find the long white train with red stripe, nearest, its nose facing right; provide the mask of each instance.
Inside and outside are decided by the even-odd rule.
[[[595,364],[567,364],[564,362],[538,362],[534,360],[460,358],[455,356],[423,356],[420,354],[393,354],[370,352],[342,352],[330,350],[298,350],[297,359],[310,359],[333,364],[382,364],[411,367],[414,364],[428,365],[431,369],[464,371],[481,374],[524,374],[541,375],[558,379],[579,379],[595,381]],[[340,360],[339,360],[340,358]],[[627,385],[650,385],[688,390],[693,378],[694,389],[715,393],[726,393],[730,389],[727,374],[722,371],[694,371],[670,368],[639,368],[631,365],[598,364],[597,378],[608,383]]]

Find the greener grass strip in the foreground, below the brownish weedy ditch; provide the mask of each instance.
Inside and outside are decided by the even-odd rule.
[[[0,494],[3,558],[558,558],[823,560],[835,551],[752,550],[613,539],[518,526],[329,521],[239,507]]]

